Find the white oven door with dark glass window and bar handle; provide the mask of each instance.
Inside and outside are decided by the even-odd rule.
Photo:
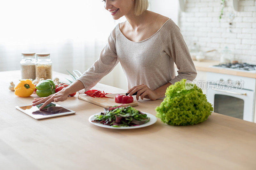
[[[212,103],[215,113],[228,115],[253,122],[254,92],[244,89],[207,89],[207,100]]]

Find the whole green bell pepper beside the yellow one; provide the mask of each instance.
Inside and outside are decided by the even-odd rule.
[[[39,97],[48,97],[55,93],[55,84],[51,79],[40,81],[36,85],[36,94]]]

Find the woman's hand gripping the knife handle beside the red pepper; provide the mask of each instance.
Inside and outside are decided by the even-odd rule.
[[[144,98],[150,99],[150,100],[156,100],[158,99],[157,93],[150,88],[148,88],[147,85],[136,85],[132,87],[130,90],[128,90],[128,95],[132,95],[133,93],[137,92],[136,100],[139,100],[139,97],[143,100]]]

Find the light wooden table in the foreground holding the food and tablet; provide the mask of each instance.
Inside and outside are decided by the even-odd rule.
[[[64,80],[67,75],[54,72]],[[255,169],[256,124],[212,113],[194,126],[105,129],[88,122],[102,107],[69,97],[58,104],[75,115],[35,120],[14,107],[21,98],[8,90],[19,71],[0,72],[0,169]],[[105,92],[125,92],[97,84]],[[156,115],[162,100],[139,100],[135,107]]]

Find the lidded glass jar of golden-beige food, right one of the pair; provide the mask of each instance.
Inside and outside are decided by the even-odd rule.
[[[36,54],[36,77],[52,79],[52,61],[49,53]]]

